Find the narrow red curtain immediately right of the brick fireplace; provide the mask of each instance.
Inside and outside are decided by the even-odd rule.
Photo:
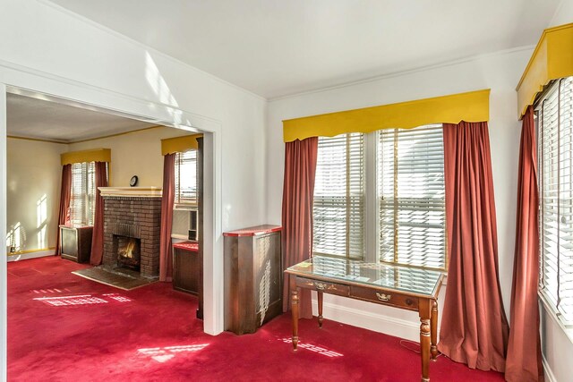
[[[175,203],[175,154],[163,159],[163,196],[161,198],[161,236],[159,239],[159,281],[171,281],[171,225]]]

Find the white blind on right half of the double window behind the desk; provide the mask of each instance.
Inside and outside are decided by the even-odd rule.
[[[440,124],[379,132],[380,260],[446,269]]]

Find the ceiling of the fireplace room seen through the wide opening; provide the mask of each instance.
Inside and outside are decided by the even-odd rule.
[[[6,120],[8,136],[63,143],[157,125],[10,93]]]

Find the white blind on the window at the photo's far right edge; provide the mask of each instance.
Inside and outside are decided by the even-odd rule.
[[[540,287],[573,324],[573,77],[557,81],[537,107]]]

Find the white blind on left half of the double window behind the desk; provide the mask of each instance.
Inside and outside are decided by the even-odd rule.
[[[363,259],[364,137],[320,137],[314,183],[314,254]]]

